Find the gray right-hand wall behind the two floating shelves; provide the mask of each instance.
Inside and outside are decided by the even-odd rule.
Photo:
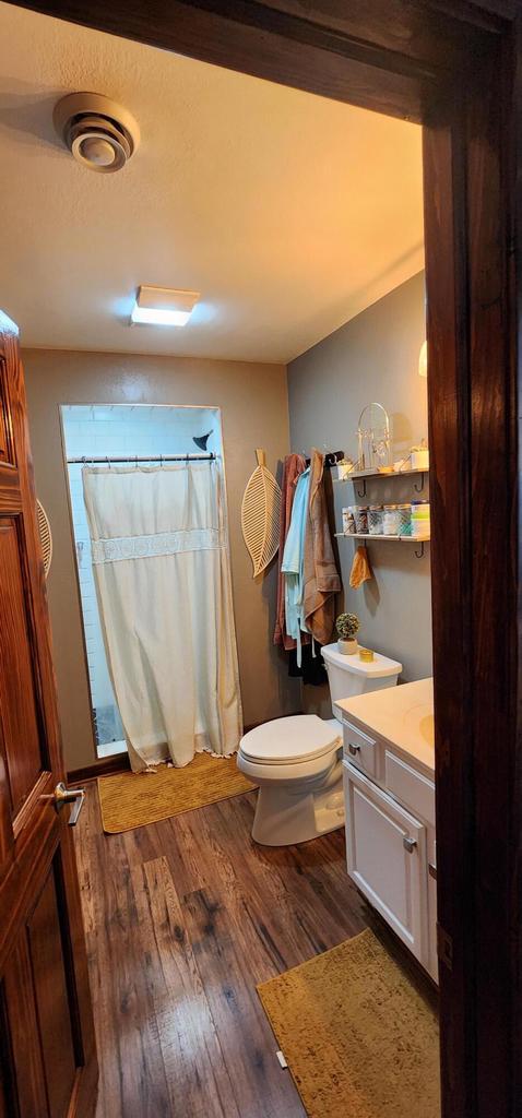
[[[373,306],[323,339],[288,367],[291,443],[343,448],[357,457],[357,426],[364,405],[376,400],[392,424],[395,458],[427,436],[427,382],[418,375],[425,337],[424,273],[401,284]],[[368,484],[368,498],[354,496],[353,483],[335,485],[336,524],[349,504],[396,503],[415,498],[411,479]],[[427,491],[425,493],[427,495]],[[339,540],[345,607],[361,620],[361,643],[404,665],[404,680],[431,673],[429,544],[416,559],[411,543],[369,544],[374,579],[349,588],[354,552]],[[314,700],[310,691],[307,709]]]

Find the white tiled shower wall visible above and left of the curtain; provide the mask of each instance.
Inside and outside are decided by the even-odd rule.
[[[192,439],[209,430],[208,449],[221,454],[220,418],[213,408],[64,405],[61,416],[68,458],[198,454],[201,452]],[[112,751],[110,742],[121,739],[123,731],[102,636],[82,468],[82,464],[68,466],[70,504],[97,747],[99,755],[105,755]]]

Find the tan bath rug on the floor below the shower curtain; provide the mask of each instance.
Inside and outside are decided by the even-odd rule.
[[[98,777],[99,806],[106,834],[132,831],[194,807],[251,792],[236,757],[196,754],[184,768],[160,765],[155,773],[120,773]]]

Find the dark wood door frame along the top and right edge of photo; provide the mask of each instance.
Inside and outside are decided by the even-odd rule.
[[[518,0],[22,7],[425,125],[443,1110],[515,1118]]]

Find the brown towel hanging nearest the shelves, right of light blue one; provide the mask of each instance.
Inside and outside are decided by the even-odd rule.
[[[324,455],[312,451],[303,570],[303,614],[317,644],[328,644],[335,618],[341,579],[335,565],[324,491]]]

